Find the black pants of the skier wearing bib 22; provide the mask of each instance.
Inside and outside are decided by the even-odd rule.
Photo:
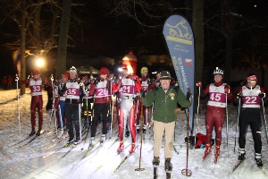
[[[242,108],[239,117],[239,148],[245,149],[247,126],[250,126],[255,153],[262,152],[262,139],[261,139],[261,116],[258,108]]]

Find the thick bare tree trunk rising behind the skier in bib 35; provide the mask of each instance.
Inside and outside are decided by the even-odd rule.
[[[68,31],[71,16],[71,0],[63,0],[60,39],[57,51],[56,76],[66,71]]]

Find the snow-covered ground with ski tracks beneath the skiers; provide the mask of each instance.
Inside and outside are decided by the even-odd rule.
[[[46,91],[44,91],[43,99],[44,107],[46,107]],[[94,152],[89,153],[86,158],[83,157],[86,153],[86,149],[88,148],[89,137],[87,141],[82,142],[75,149],[72,149],[71,152],[69,152],[64,158],[62,157],[66,154],[68,149],[58,150],[53,155],[44,158],[46,155],[51,154],[54,150],[60,149],[65,142],[61,141],[54,145],[58,142],[52,142],[55,134],[47,134],[49,130],[48,126],[50,115],[46,113],[45,108],[44,129],[46,130],[46,133],[22,148],[20,148],[20,146],[27,141],[23,141],[20,144],[13,146],[19,141],[26,139],[30,132],[29,104],[30,95],[29,90],[27,90],[26,94],[20,98],[20,134],[16,90],[0,90],[0,178],[153,178],[153,141],[152,139],[149,139],[151,133],[147,133],[146,141],[142,144],[140,167],[145,168],[144,171],[135,171],[136,168],[139,168],[139,143],[139,147],[136,152],[133,153],[115,173],[113,172],[114,169],[121,163],[121,160],[128,154],[129,150],[125,149],[120,155],[116,156],[116,149],[119,146],[119,142],[116,141],[115,144],[112,145],[113,141],[116,140],[116,133],[113,133],[113,138],[111,140],[105,142],[103,148],[96,149]],[[205,107],[203,108],[203,113],[198,116],[197,132],[205,133]],[[247,158],[234,173],[230,174],[238,157],[238,149],[236,149],[236,153],[234,153],[234,138],[236,131],[235,107],[229,105],[229,114],[229,147],[227,148],[226,145],[227,135],[226,128],[224,127],[222,132],[222,153],[218,164],[214,164],[214,155],[209,156],[205,162],[203,162],[202,157],[204,149],[189,149],[188,170],[192,173],[190,178],[268,178],[268,147],[264,128],[262,130],[263,169],[259,169],[255,165],[253,140],[251,132],[248,130],[246,145]],[[100,129],[98,129],[98,131],[100,131]],[[114,131],[116,131],[116,129]],[[181,174],[181,170],[185,169],[187,166],[187,145],[184,142],[186,135],[186,117],[181,114],[176,124],[175,141],[175,148],[180,153],[177,154],[173,152],[172,178],[188,178],[188,176]],[[239,135],[237,135],[237,139],[238,136]],[[130,138],[126,141],[126,145],[129,143]],[[161,154],[158,178],[165,178],[165,173],[163,171],[163,149]]]

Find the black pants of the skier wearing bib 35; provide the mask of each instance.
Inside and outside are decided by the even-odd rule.
[[[76,132],[76,139],[80,139],[80,114],[79,114],[79,107],[78,104],[69,104],[65,103],[65,116],[67,120],[67,128],[69,137],[73,139],[73,125]]]

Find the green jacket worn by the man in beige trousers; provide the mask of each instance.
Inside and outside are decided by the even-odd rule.
[[[176,91],[170,87],[170,89],[164,93],[163,89],[157,87],[156,92],[149,90],[145,98],[143,99],[143,106],[150,107],[155,102],[155,112],[153,114],[154,121],[162,123],[172,123],[176,120],[177,102],[181,107],[188,107],[188,101],[182,90]],[[170,92],[171,91],[171,92]],[[155,93],[155,94],[154,94]],[[169,94],[165,99],[166,94]],[[162,102],[163,101],[163,102]]]

